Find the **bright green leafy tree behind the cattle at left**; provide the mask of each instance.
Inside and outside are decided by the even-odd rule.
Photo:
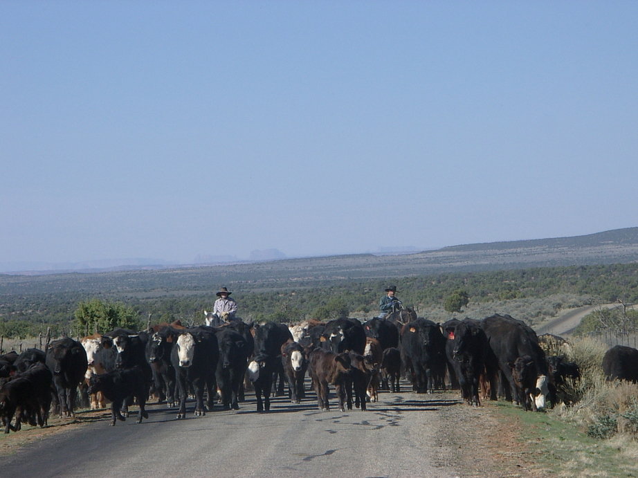
[[[138,313],[122,302],[109,303],[91,299],[80,302],[73,315],[73,331],[78,335],[105,333],[118,327],[132,330],[140,327]]]

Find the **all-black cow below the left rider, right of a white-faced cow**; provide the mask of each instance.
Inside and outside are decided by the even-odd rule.
[[[248,349],[248,344],[244,337],[228,327],[217,329],[217,344],[219,346],[219,360],[215,377],[217,387],[221,392],[221,403],[224,410],[239,410],[237,395],[239,386],[244,380],[246,367],[248,367],[248,357],[252,351]]]

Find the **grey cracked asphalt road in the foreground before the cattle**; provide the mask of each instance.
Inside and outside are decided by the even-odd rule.
[[[108,426],[103,420],[44,439],[3,459],[1,476],[21,477],[454,477],[457,443],[443,440],[447,418],[466,408],[458,392],[380,394],[367,412],[316,408],[276,398],[257,413],[219,408],[188,419],[163,405]],[[136,414],[136,407],[133,409]]]

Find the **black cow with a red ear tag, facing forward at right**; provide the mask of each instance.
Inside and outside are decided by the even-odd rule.
[[[450,344],[461,396],[468,405],[479,406],[479,380],[489,349],[487,336],[477,320],[464,319],[456,324],[453,337],[448,335],[446,350]]]

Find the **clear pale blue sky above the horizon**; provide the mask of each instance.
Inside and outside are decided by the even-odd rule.
[[[0,263],[638,226],[638,2],[2,1]]]

